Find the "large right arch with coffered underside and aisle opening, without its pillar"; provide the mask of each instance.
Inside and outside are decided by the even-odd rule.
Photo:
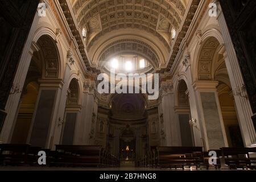
[[[201,36],[201,42],[199,41],[196,47],[192,70],[193,81],[218,81],[216,87],[218,94],[217,104],[220,106],[220,117],[223,119],[224,130],[222,130],[222,134],[227,137],[228,145],[233,146],[233,143],[230,142],[232,135],[229,133],[229,124],[232,123],[236,127],[236,131],[240,131],[240,129],[236,109],[230,96],[232,89],[230,87],[229,75],[226,70],[224,57],[220,53],[223,52],[220,50],[223,48],[224,41],[220,31],[212,26],[207,28],[209,27],[212,29],[204,32]],[[236,135],[234,133],[233,136]],[[240,138],[239,140],[242,139]],[[242,142],[240,144],[242,146]]]

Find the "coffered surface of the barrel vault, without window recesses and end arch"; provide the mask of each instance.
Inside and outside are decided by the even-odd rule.
[[[101,36],[120,28],[138,28],[150,32],[170,49],[168,36],[156,31],[159,15],[177,30],[185,8],[179,0],[79,0],[73,6],[73,11],[81,27],[88,27],[90,19],[97,14],[100,16],[102,31],[90,37],[88,51]]]

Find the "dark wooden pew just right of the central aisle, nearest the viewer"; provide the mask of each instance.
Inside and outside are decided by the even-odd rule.
[[[203,147],[157,147],[155,167],[182,168],[185,166],[196,168],[207,167],[204,163]]]

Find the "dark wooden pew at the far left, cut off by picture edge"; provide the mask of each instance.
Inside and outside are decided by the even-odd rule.
[[[30,144],[0,144],[0,164],[28,165]]]

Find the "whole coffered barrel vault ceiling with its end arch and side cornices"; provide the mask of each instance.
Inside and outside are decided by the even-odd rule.
[[[160,73],[170,71],[199,2],[59,0],[86,69],[96,73],[100,61],[122,53],[146,57]]]

